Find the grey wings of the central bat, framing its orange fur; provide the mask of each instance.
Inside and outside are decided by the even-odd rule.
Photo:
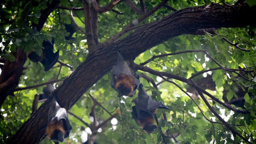
[[[118,52],[117,48],[116,48],[116,51],[117,51],[117,58],[116,58],[116,65],[112,69],[111,87],[116,92],[118,92],[118,90],[115,87],[116,86],[116,82],[115,82],[115,78],[114,78],[115,75],[116,76],[119,76],[120,74],[130,75],[134,79],[135,88],[132,91],[132,95],[134,95],[136,93],[136,90],[137,90],[138,86],[140,85],[139,77],[138,76],[136,77],[136,74],[135,74],[134,70],[132,70],[129,67],[129,61],[125,61],[124,58],[121,57],[121,54]]]

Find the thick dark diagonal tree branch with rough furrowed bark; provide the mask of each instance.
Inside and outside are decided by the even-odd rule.
[[[90,53],[56,89],[57,101],[68,110],[94,83],[107,74],[116,63],[114,45],[117,45],[126,59],[134,59],[149,48],[181,34],[198,34],[198,30],[208,28],[255,25],[249,18],[249,15],[255,15],[255,10],[255,7],[250,8],[246,4],[210,4],[189,7],[150,23],[124,39]],[[10,142],[39,143],[46,136],[45,130],[39,129],[47,125],[48,108],[47,100],[21,126]]]

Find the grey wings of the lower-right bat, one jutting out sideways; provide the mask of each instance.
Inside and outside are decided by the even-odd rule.
[[[163,104],[163,102],[154,101],[150,96],[148,96],[141,84],[139,86],[138,99],[135,99],[134,103],[137,113],[139,113],[140,110],[151,113],[152,110],[157,108],[169,109],[165,104]],[[138,115],[138,118],[140,118],[140,115]]]

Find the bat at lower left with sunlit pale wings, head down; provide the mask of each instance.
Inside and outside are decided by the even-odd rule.
[[[61,108],[54,97],[54,92],[49,96],[51,107],[48,112],[48,125],[46,126],[46,133],[50,140],[55,144],[63,142],[64,138],[69,137],[72,126],[67,117],[67,111]]]

